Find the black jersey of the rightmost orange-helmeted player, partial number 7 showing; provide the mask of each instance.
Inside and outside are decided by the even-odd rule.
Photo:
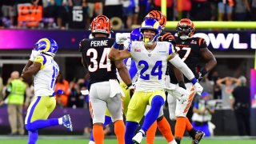
[[[194,75],[197,75],[197,66],[200,61],[200,50],[207,48],[206,41],[203,38],[188,38],[186,40],[182,40],[178,37],[174,37],[176,46],[175,50],[178,53],[179,57],[182,58],[182,61],[186,63],[186,65],[192,70]],[[175,78],[174,71],[172,69],[169,70],[170,74],[170,82],[178,83]],[[185,82],[190,82],[184,76]]]

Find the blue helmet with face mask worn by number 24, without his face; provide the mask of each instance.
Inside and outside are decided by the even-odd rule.
[[[150,41],[149,38],[145,38],[143,32],[144,30],[154,30],[155,35],[154,38]],[[152,46],[154,42],[158,41],[158,37],[161,33],[161,26],[157,20],[154,18],[146,18],[144,22],[142,22],[142,27],[140,29],[141,34],[142,34],[142,41],[146,43],[148,46]]]

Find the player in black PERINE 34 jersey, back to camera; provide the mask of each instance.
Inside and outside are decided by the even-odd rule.
[[[110,19],[99,15],[91,22],[90,30],[94,38],[83,39],[80,44],[82,63],[90,74],[90,114],[93,118],[94,141],[104,140],[103,123],[106,107],[114,122],[114,132],[118,143],[124,143],[125,125],[122,119],[122,89],[118,84],[116,69],[126,85],[131,83],[130,75],[122,61],[110,61],[108,54],[114,44],[110,36]]]

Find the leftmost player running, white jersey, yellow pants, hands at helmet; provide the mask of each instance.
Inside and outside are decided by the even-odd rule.
[[[62,94],[62,90],[55,89],[55,81],[58,76],[59,67],[54,61],[54,56],[58,50],[58,45],[52,38],[42,38],[36,44],[30,60],[22,71],[22,78],[27,79],[34,76],[34,98],[28,107],[25,126],[29,133],[29,144],[34,144],[38,140],[38,130],[62,125],[72,131],[73,126],[70,115],[66,114],[62,118],[50,118],[56,106],[55,94]]]

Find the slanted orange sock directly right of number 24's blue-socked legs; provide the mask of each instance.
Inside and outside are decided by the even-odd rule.
[[[160,130],[167,142],[172,142],[174,140],[174,135],[170,129],[170,124],[165,117],[158,122],[158,130]]]

